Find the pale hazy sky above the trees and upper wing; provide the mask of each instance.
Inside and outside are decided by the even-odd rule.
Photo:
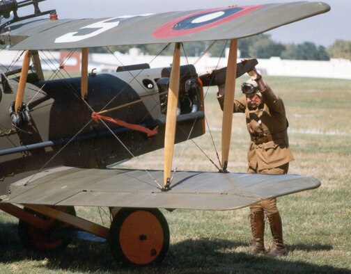
[[[176,10],[219,8],[260,3],[288,3],[287,0],[47,0],[40,10],[56,9],[59,19],[100,18]],[[329,46],[336,39],[351,40],[351,0],[324,0],[331,6],[329,13],[304,19],[267,33],[275,42],[299,44],[314,42]]]

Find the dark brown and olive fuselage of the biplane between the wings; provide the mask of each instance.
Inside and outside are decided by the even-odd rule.
[[[28,172],[52,166],[107,166],[164,147],[164,124],[170,68],[131,70],[88,77],[88,96],[81,99],[81,78],[26,83],[24,103],[30,120],[17,127],[9,107],[15,101],[17,80],[3,82],[0,101],[0,194]],[[176,143],[200,136],[203,130],[201,90],[194,66],[181,69]],[[111,110],[112,109],[112,110]],[[157,134],[91,118],[93,113]],[[109,111],[110,110],[110,111]],[[194,129],[192,129],[194,124]],[[108,125],[109,127],[107,127]],[[192,130],[191,130],[192,129]]]

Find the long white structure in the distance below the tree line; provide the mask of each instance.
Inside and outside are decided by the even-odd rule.
[[[228,54],[228,52],[226,52]],[[80,53],[70,54],[68,51],[40,51],[42,70],[55,71],[61,66],[67,72],[79,71],[81,65]],[[69,59],[67,57],[70,56]],[[238,53],[240,56],[240,52]],[[116,72],[121,65],[149,63],[150,67],[167,67],[172,63],[172,56],[150,56],[141,53],[139,49],[130,49],[127,54],[116,51],[114,54],[89,54],[88,70],[95,72]],[[193,64],[198,74],[205,74],[210,70],[226,67],[227,58],[210,57],[205,54],[198,57],[181,57],[181,65]],[[240,58],[237,59],[240,62]],[[8,67],[22,66],[22,56],[17,51],[0,51],[0,68],[6,72]],[[283,60],[279,57],[259,59],[257,69],[269,76],[302,76],[334,79],[351,79],[351,61],[345,59],[331,59],[330,61],[295,61]]]

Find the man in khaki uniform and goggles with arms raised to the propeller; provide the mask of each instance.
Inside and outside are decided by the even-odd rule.
[[[294,159],[288,142],[288,120],[281,98],[266,85],[262,76],[252,70],[251,79],[242,84],[244,97],[234,100],[234,113],[245,113],[251,142],[247,159],[249,173],[286,174],[289,162]],[[219,86],[217,95],[221,109],[224,104],[224,85]],[[268,256],[285,255],[281,216],[276,207],[276,199],[268,199],[251,204],[250,222],[253,234],[251,253],[265,252],[265,215],[270,223],[273,244]]]

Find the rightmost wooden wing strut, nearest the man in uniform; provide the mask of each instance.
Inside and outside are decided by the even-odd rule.
[[[231,130],[233,121],[233,102],[235,93],[235,76],[237,70],[237,40],[231,40],[229,48],[228,65],[226,70],[226,88],[224,96],[222,133],[221,133],[221,156],[222,172],[228,166],[229,148],[231,146]]]

